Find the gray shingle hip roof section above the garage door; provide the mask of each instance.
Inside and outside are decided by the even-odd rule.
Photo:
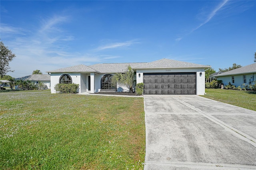
[[[176,61],[172,59],[160,59],[150,63],[145,63],[143,65],[139,65],[134,68],[147,69],[147,68],[184,68],[184,67],[200,67],[200,68],[208,68],[209,65],[201,65],[195,63],[188,63],[184,61]]]

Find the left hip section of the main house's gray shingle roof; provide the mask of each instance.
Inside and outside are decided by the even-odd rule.
[[[62,69],[56,69],[56,70],[52,70],[52,71],[46,71],[46,73],[74,73],[74,72],[97,72],[94,69],[91,69],[90,67],[80,64],[80,65],[75,65],[75,66],[71,66],[71,67],[66,67],[66,68],[62,68]]]

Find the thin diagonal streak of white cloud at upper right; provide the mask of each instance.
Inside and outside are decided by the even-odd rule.
[[[218,11],[220,11],[228,3],[228,1],[229,0],[224,0],[224,1],[220,2],[220,4],[218,4],[218,6],[216,6],[208,15],[206,15],[206,19],[203,22],[201,22],[199,24],[199,26],[197,26],[196,28],[192,29],[185,36],[191,34],[192,32],[194,32],[194,31],[198,30],[200,27],[202,27],[204,24],[208,23],[218,13]],[[180,41],[180,40],[182,40],[183,37],[176,38],[175,40],[176,41]]]

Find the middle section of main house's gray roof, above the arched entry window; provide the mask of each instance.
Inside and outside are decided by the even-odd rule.
[[[100,73],[120,73],[127,70],[128,65],[132,68],[142,65],[144,63],[107,63],[107,64],[94,64],[88,67],[100,72]]]

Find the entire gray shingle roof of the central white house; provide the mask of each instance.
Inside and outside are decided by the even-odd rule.
[[[66,67],[62,69],[56,69],[52,71],[46,71],[47,73],[70,73],[70,72],[94,72],[94,73],[120,73],[127,70],[128,65],[132,69],[147,69],[147,68],[208,68],[209,65],[201,65],[195,63],[188,63],[184,61],[176,61],[171,59],[160,59],[150,63],[102,63],[94,65],[76,65],[72,67]]]

